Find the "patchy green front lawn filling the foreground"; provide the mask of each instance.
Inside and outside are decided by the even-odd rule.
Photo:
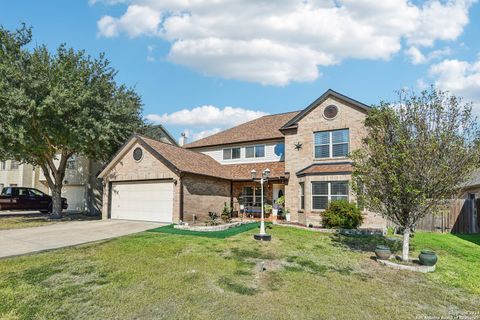
[[[415,250],[440,253],[425,275],[354,245],[375,238],[273,226],[261,243],[255,232],[144,232],[0,260],[0,318],[415,319],[480,305],[480,236],[417,234]]]

